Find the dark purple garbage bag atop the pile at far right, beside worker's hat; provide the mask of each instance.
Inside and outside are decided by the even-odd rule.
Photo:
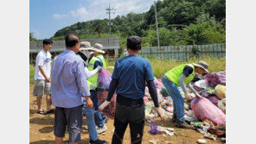
[[[204,76],[204,80],[209,87],[226,85],[226,71],[208,73]]]

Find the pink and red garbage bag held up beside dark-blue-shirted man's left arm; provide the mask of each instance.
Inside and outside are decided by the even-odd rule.
[[[108,89],[110,82],[112,80],[112,74],[108,71],[106,71],[105,68],[102,68],[102,70],[99,72],[98,76],[98,99],[99,99],[99,104],[104,103],[107,98],[108,94]],[[116,99],[117,99],[117,94],[114,94],[112,97],[112,100],[110,104],[102,111],[102,113],[109,117],[110,119],[114,119],[115,113],[116,113]]]

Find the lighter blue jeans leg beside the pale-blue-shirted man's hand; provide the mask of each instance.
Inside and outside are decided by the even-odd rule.
[[[96,141],[98,140],[97,131],[95,128],[94,122],[94,110],[86,108],[86,100],[83,98],[83,107],[82,112],[86,114],[86,121],[87,121],[87,128],[89,132],[89,137],[91,140]]]

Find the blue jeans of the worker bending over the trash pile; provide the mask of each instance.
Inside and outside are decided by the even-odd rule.
[[[162,77],[163,85],[170,94],[173,100],[173,114],[176,115],[177,120],[184,121],[184,98],[182,97],[177,86],[168,78]]]

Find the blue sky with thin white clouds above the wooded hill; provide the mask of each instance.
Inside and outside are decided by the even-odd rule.
[[[125,16],[129,12],[143,13],[154,0],[30,0],[29,32],[36,39],[52,37],[61,28],[76,22],[108,19],[106,9],[116,9],[111,18]]]

